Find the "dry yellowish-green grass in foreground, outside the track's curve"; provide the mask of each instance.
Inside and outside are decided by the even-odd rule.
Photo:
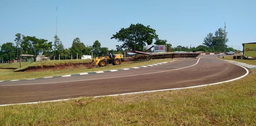
[[[249,62],[256,65],[255,60]],[[255,76],[252,70],[240,80],[207,87],[3,106],[0,125],[255,126]]]

